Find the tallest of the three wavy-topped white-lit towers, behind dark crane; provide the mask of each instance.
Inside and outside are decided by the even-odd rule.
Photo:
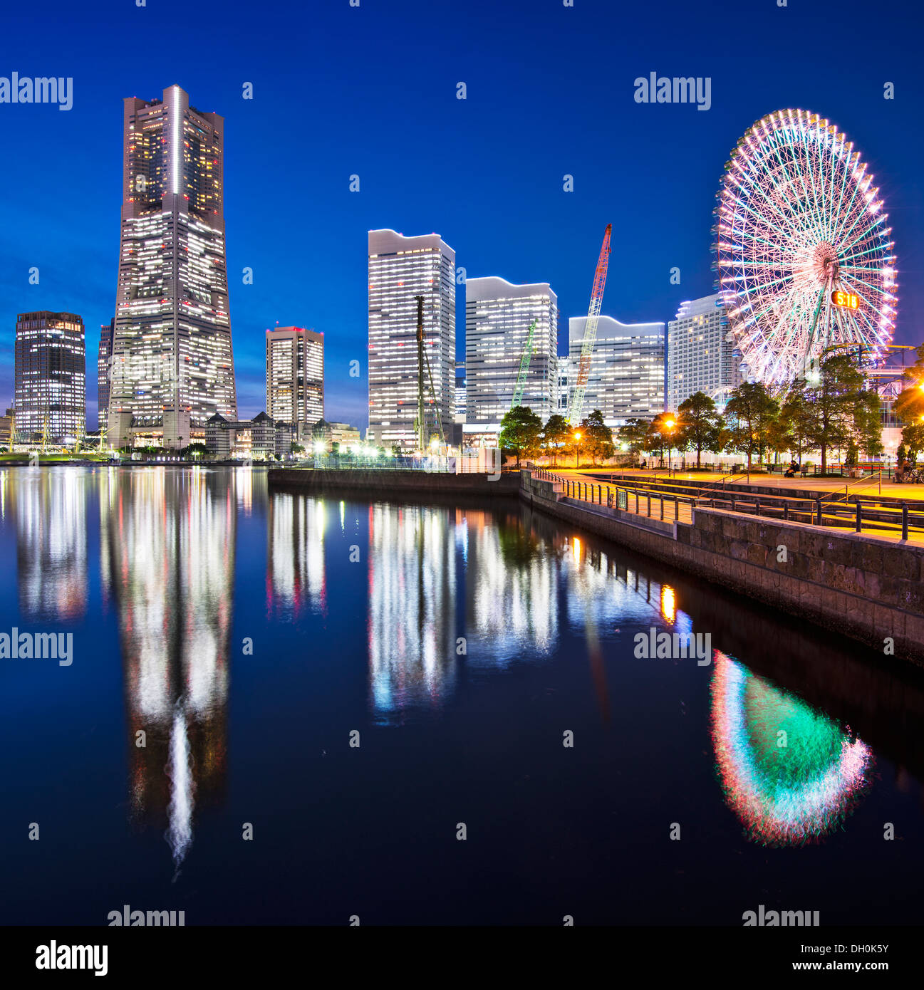
[[[436,436],[439,410],[449,438],[456,416],[456,251],[439,234],[369,231],[368,261],[370,439],[385,447],[417,444],[417,296],[424,297],[426,433]]]

